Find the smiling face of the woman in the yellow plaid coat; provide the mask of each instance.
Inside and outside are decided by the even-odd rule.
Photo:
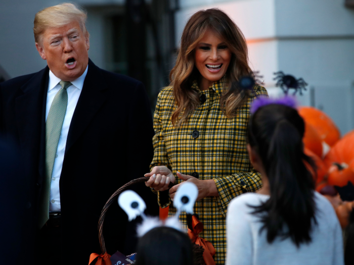
[[[200,89],[207,89],[213,82],[221,79],[228,70],[230,61],[231,51],[224,39],[220,39],[214,31],[207,30],[195,49],[195,66],[202,78]]]

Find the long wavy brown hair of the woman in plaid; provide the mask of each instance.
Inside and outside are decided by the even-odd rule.
[[[225,111],[227,117],[235,117],[237,110],[248,98],[248,94],[241,96],[237,86],[232,86],[232,83],[237,82],[242,76],[253,76],[248,66],[247,44],[241,30],[228,15],[219,9],[198,11],[188,20],[183,30],[176,64],[169,74],[177,105],[171,120],[176,127],[180,127],[188,115],[200,104],[198,92],[191,88],[192,82],[200,77],[195,67],[195,47],[208,29],[224,39],[232,54],[226,72],[224,92],[220,98],[222,110]]]

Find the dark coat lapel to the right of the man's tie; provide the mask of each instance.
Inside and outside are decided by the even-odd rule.
[[[105,84],[99,69],[91,60],[83,83],[82,91],[70,123],[65,153],[79,139],[94,115],[106,100]]]

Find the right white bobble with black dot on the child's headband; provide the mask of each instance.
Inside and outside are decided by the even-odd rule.
[[[177,208],[177,212],[186,211],[187,214],[193,215],[193,206],[198,197],[198,188],[192,182],[182,182],[173,199],[173,205]],[[176,214],[178,216],[178,214]]]

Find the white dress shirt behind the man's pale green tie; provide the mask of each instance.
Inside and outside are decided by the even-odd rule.
[[[74,114],[77,101],[81,94],[83,81],[85,80],[87,69],[85,72],[77,79],[71,82],[71,86],[69,86],[66,91],[68,92],[68,105],[66,108],[66,114],[63,122],[62,131],[59,137],[57,154],[54,161],[53,173],[52,173],[52,182],[51,182],[51,196],[49,203],[49,211],[60,211],[60,193],[59,193],[59,180],[62,172],[63,161],[64,161],[64,152],[66,146],[66,139],[68,138],[69,127],[72,119],[72,115]],[[49,110],[51,109],[52,102],[54,100],[55,95],[61,89],[61,85],[59,82],[61,79],[56,77],[52,71],[49,71],[49,85],[47,92],[47,107],[46,107],[46,121],[48,118]]]

